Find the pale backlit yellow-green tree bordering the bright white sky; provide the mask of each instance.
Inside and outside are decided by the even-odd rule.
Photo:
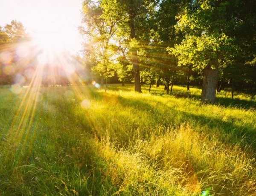
[[[81,33],[86,35],[87,49],[85,52],[90,53],[90,58],[96,61],[96,65],[92,70],[99,73],[102,78],[106,79],[106,88],[108,86],[108,78],[114,75],[113,50],[111,39],[116,32],[117,17],[109,17],[106,14],[106,1],[101,3],[93,3],[90,0],[83,1],[83,23],[85,27],[81,28]]]

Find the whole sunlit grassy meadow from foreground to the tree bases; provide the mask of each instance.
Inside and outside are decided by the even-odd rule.
[[[255,99],[147,89],[0,88],[0,195],[256,194]]]

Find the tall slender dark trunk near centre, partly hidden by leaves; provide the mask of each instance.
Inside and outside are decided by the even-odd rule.
[[[129,25],[131,29],[131,39],[136,38],[135,36],[135,28],[134,28],[134,9],[130,10],[129,13]],[[138,65],[138,55],[137,55],[137,49],[131,48],[131,55],[132,55],[132,65],[134,68],[134,90],[135,92],[141,92],[141,84],[140,84],[140,68]]]

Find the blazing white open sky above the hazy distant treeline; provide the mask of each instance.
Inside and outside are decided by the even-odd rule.
[[[48,40],[70,52],[81,49],[81,0],[0,0],[0,26],[11,20],[23,23],[41,43]]]

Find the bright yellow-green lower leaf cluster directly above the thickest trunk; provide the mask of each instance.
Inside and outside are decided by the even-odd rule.
[[[189,35],[181,44],[175,44],[174,48],[168,47],[167,50],[170,55],[177,56],[179,66],[193,64],[194,69],[202,70],[210,64],[215,69],[220,65],[223,67],[229,61],[228,50],[232,48],[231,41],[232,39],[224,34],[217,37],[204,34],[200,37]],[[212,64],[213,59],[219,59],[219,62]]]

